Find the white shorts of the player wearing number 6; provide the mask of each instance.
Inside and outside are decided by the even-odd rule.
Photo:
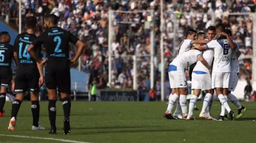
[[[228,88],[230,72],[213,72],[212,88]]]

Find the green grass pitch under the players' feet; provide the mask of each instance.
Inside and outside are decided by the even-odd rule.
[[[233,111],[237,108],[229,102]],[[63,135],[62,102],[57,102],[57,134],[49,135],[48,102],[40,102],[40,125],[45,131],[31,131],[31,103],[23,102],[15,132],[9,132],[11,103],[5,105],[6,117],[0,118],[0,134],[49,137],[86,142],[256,142],[255,102],[242,102],[247,108],[237,121],[185,121],[162,118],[166,102],[72,102],[71,134]],[[202,102],[196,103],[202,108]],[[194,111],[198,119],[200,111]],[[211,113],[220,113],[215,101]],[[0,142],[60,142],[0,136]]]

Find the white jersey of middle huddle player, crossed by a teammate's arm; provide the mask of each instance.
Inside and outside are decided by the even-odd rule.
[[[206,49],[203,53],[204,59],[207,61],[207,63],[211,66],[213,63],[213,55],[214,51],[213,49]],[[193,69],[193,72],[197,73],[209,73],[209,70],[203,65],[203,63],[199,60],[196,62],[196,65]]]

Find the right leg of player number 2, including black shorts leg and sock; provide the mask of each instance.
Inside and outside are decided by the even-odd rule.
[[[56,77],[58,92],[61,93],[62,107],[64,112],[63,133],[66,135],[70,132],[69,116],[71,111],[71,99],[69,97],[71,93],[71,77],[69,68],[58,72]]]

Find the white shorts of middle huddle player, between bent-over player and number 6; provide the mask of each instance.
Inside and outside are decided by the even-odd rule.
[[[191,89],[210,90],[212,89],[212,78],[209,73],[196,74],[192,72]]]

